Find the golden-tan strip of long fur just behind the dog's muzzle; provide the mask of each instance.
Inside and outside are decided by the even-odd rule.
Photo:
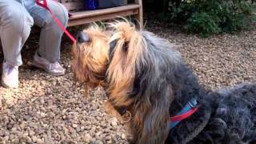
[[[128,106],[132,102],[128,94],[133,90],[135,69],[142,60],[142,36],[127,22],[110,23],[109,27],[114,31],[110,42],[116,42],[107,71],[110,100],[116,106]]]

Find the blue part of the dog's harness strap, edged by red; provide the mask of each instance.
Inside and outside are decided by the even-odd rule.
[[[177,115],[181,115],[181,114],[186,114],[187,112],[189,112],[190,110],[192,110],[193,108],[195,108],[197,106],[198,102],[195,98],[192,98],[187,104],[186,106],[183,107],[183,109],[181,111],[178,112]],[[174,128],[175,126],[178,125],[178,123],[181,121],[177,121],[177,122],[170,122],[170,129]]]

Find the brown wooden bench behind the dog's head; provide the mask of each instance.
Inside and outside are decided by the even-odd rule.
[[[142,0],[134,0],[134,4],[118,6],[102,10],[83,10],[84,0],[58,0],[67,10],[70,11],[70,20],[68,26],[78,26],[90,22],[98,22],[107,19],[117,18],[118,16],[126,17],[134,15],[143,26]]]

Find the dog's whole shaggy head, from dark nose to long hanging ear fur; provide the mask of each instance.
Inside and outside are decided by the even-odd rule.
[[[111,104],[131,111],[137,143],[164,143],[174,100],[171,79],[180,56],[170,42],[126,20],[108,28],[111,35],[98,26],[78,34],[74,74],[90,87],[106,80]]]

